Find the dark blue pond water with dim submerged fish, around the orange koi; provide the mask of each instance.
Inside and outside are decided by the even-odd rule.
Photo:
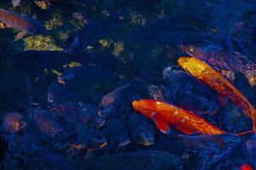
[[[252,130],[251,119],[177,65],[181,56],[204,60],[256,106],[253,0],[5,0],[0,8],[47,29],[14,42],[20,30],[1,25],[1,169],[256,168],[255,134],[236,135]],[[227,133],[172,124],[161,133],[134,110],[138,99],[193,111]]]

